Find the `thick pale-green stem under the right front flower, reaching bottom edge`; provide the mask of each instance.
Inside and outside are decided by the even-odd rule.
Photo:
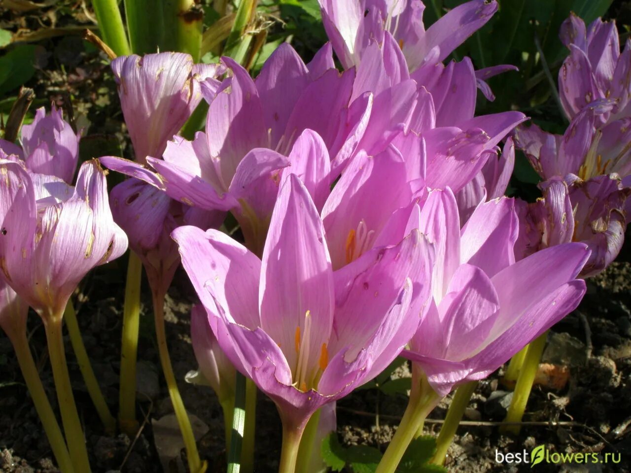
[[[396,471],[418,428],[422,426],[427,414],[432,412],[439,400],[439,395],[429,385],[425,375],[420,373],[416,366],[413,366],[412,390],[408,407],[386,449],[386,453],[377,466],[376,473],[394,473]]]

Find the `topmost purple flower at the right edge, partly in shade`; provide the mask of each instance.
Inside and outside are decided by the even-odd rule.
[[[613,101],[613,107],[599,115],[599,125],[631,116],[631,41],[627,40],[621,54],[615,21],[597,18],[586,28],[571,13],[561,26],[560,37],[570,50],[558,74],[559,95],[569,119],[603,99]]]

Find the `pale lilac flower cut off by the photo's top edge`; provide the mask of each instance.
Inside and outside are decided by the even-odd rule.
[[[423,26],[425,5],[420,0],[319,0],[324,29],[342,65],[360,64],[369,40],[392,34],[410,71],[427,60],[443,61],[497,11],[495,0],[473,0],[442,16],[428,30]]]

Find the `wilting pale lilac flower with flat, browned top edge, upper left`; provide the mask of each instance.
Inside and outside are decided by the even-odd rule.
[[[219,70],[215,65],[193,64],[191,55],[180,52],[133,54],[112,61],[136,161],[162,156],[167,141],[202,99],[199,81],[213,78]]]

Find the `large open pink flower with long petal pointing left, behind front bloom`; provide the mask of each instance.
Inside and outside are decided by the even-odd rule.
[[[349,107],[355,73],[332,69],[327,46],[305,66],[292,47],[281,45],[256,81],[232,59],[222,61],[227,78],[220,85],[214,80],[202,84],[210,102],[206,133],[192,142],[175,137],[163,160],[148,158],[159,174],[121,158],[101,159],[180,202],[232,210],[247,244],[260,254],[281,169],[301,167],[297,161],[304,163],[304,156],[326,157],[326,162],[318,159],[324,166],[318,172],[326,175],[313,181],[321,189],[314,199],[322,205],[322,192],[327,193],[333,178],[327,175],[331,159],[343,163],[355,151],[372,99],[363,97]]]

